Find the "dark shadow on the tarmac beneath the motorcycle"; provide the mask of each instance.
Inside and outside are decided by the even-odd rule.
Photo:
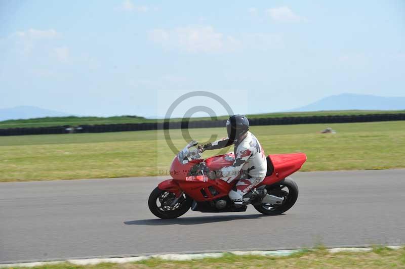
[[[195,224],[204,224],[204,223],[213,223],[213,222],[222,222],[230,221],[235,219],[255,219],[263,217],[275,217],[282,216],[285,214],[279,215],[263,215],[263,214],[251,214],[251,215],[226,215],[226,216],[202,216],[202,217],[179,217],[173,219],[138,219],[124,221],[125,225],[147,225],[147,226],[160,226],[160,225],[195,225]]]

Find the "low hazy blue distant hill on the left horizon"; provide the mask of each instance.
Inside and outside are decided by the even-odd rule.
[[[0,121],[8,119],[30,119],[64,116],[69,116],[69,114],[32,106],[19,106],[0,109]]]

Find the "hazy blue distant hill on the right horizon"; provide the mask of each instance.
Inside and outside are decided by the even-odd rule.
[[[373,95],[341,94],[333,95],[312,104],[290,111],[321,110],[402,110],[405,97],[381,97]]]

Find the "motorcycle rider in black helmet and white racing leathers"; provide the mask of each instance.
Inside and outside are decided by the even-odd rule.
[[[231,116],[226,122],[226,130],[227,138],[198,148],[204,151],[234,145],[235,160],[233,164],[217,171],[210,171],[208,175],[211,179],[220,178],[228,183],[238,180],[228,196],[235,205],[242,205],[250,199],[246,194],[262,182],[266,176],[266,155],[257,138],[249,131],[249,120],[245,116]]]

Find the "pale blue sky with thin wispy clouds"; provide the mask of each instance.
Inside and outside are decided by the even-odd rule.
[[[405,96],[405,2],[0,0],[0,59],[0,108],[150,117],[190,91],[235,113]],[[175,116],[226,114],[184,103]]]

